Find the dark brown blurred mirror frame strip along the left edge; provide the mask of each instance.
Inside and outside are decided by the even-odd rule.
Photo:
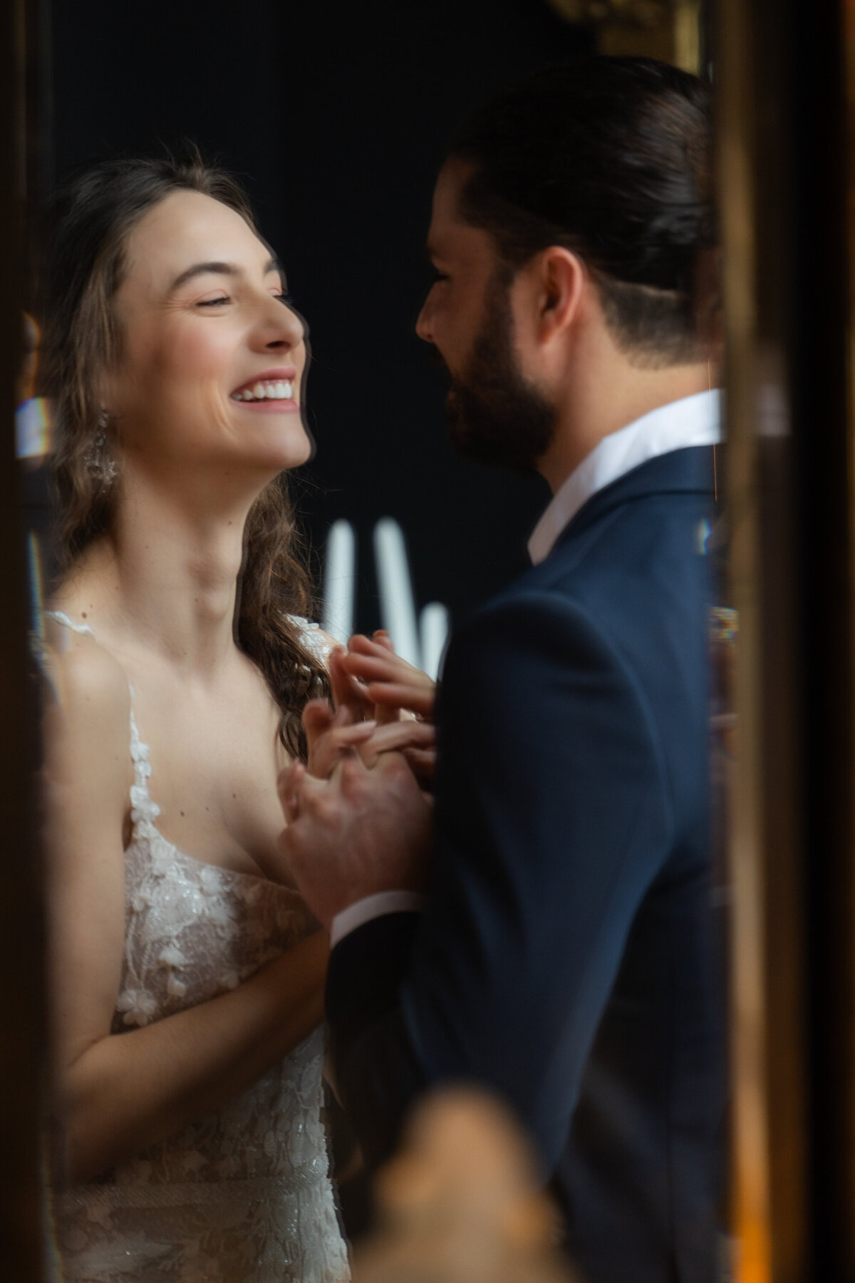
[[[31,108],[28,67],[37,12],[31,0],[3,9],[0,38],[0,396],[5,431],[0,457],[0,1239],[6,1278],[45,1278],[41,1101],[45,983],[41,861],[35,775],[38,690],[27,639],[31,600],[26,506],[15,458],[26,302]]]

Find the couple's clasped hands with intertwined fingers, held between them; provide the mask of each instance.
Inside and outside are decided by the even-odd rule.
[[[278,780],[279,874],[326,928],[367,896],[426,888],[435,761],[435,685],[385,633],[333,650],[329,681],[335,711],[313,699],[303,712],[308,765],[294,762]]]

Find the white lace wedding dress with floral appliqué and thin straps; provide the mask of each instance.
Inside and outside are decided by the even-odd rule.
[[[306,631],[304,640],[315,639]],[[296,892],[203,863],[158,831],[149,749],[133,711],[131,757],[117,1037],[233,989],[314,925]],[[214,1114],[97,1180],[55,1192],[65,1283],[347,1279],[328,1174],[322,1057],[318,1029]]]

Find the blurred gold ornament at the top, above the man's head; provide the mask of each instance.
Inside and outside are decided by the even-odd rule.
[[[702,50],[702,0],[547,0],[568,22],[594,31],[601,54],[643,55],[697,73]]]

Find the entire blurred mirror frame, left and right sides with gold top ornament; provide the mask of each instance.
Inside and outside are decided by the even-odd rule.
[[[599,26],[604,53],[654,53],[651,42],[665,38],[664,28],[626,21],[632,8],[600,4],[600,13],[614,10]],[[682,65],[708,64],[714,32],[720,110],[740,618],[729,830],[733,1274],[740,1283],[843,1280],[855,1278],[855,5],[837,0],[809,15],[795,0],[670,8],[670,56]],[[12,0],[0,40],[0,1236],[15,1283],[41,1283],[47,1269],[37,685],[14,448],[27,218],[49,123],[38,90],[45,12],[38,0]]]

